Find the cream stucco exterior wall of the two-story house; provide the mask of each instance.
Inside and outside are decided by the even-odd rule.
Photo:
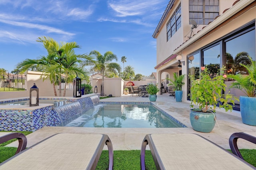
[[[219,11],[220,15],[223,14],[223,11],[227,8],[230,8],[230,10],[226,11],[223,16],[219,16],[216,18],[212,23],[209,23],[208,25],[202,25],[206,26],[204,29],[202,27],[198,27],[197,29],[194,29],[194,37],[188,40],[188,38],[184,39],[184,35],[186,35],[190,31],[191,25],[189,25],[189,10],[188,10],[188,2],[182,0],[181,1],[181,9],[182,9],[182,25],[181,28],[178,30],[180,32],[176,32],[173,37],[169,40],[170,42],[166,42],[166,23],[172,16],[172,13],[176,8],[172,8],[170,10],[170,14],[168,14],[168,17],[166,17],[165,21],[163,22],[162,26],[159,29],[159,32],[156,34],[157,39],[157,82],[161,82],[161,75],[163,72],[168,72],[170,74],[170,78],[172,78],[172,72],[177,72],[178,70],[182,70],[182,74],[187,74],[187,56],[191,53],[194,53],[195,51],[198,51],[198,49],[202,49],[203,47],[206,47],[210,43],[213,43],[214,41],[221,39],[222,37],[226,36],[227,34],[231,33],[232,31],[236,31],[236,29],[242,27],[243,25],[246,25],[250,21],[256,20],[256,7],[252,5],[254,3],[253,0],[242,0],[232,6],[232,4],[236,0],[220,0],[219,4]],[[180,3],[180,1],[176,1],[174,3],[174,6],[177,6]],[[252,3],[252,4],[250,4]],[[250,8],[243,10],[250,4]],[[241,8],[241,9],[239,9]],[[228,16],[228,14],[232,14],[233,11],[237,11],[234,15]],[[239,10],[243,10],[243,12],[239,13]],[[226,16],[226,18],[224,18]],[[218,23],[219,22],[219,23]],[[183,27],[183,29],[182,29]],[[212,27],[212,29],[210,29]],[[200,31],[199,31],[200,30]],[[199,32],[198,32],[199,31]],[[198,34],[198,35],[197,35]],[[181,42],[182,40],[182,42]],[[186,45],[188,44],[188,45]],[[182,60],[185,61],[185,65],[182,65],[182,68],[174,68],[173,66],[178,65],[178,61],[176,60],[176,55],[181,55]],[[168,57],[172,57],[172,59],[167,60]],[[253,56],[255,59],[255,56]],[[164,64],[161,64],[164,63]],[[170,68],[173,67],[173,68]],[[178,69],[178,70],[177,70]],[[188,78],[188,77],[187,77]],[[186,79],[184,86],[182,87],[183,93],[183,99],[186,101],[187,97],[187,84],[188,79]]]

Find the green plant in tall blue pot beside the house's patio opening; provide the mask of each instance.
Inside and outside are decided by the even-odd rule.
[[[182,74],[180,76],[178,76],[178,74],[176,74],[175,72],[173,73],[173,78],[174,80],[167,78],[167,80],[170,80],[170,84],[168,84],[168,86],[173,85],[174,86],[174,90],[175,90],[175,98],[176,98],[176,102],[181,102],[182,101],[182,86],[183,84],[185,84],[183,82],[184,78],[185,78],[185,74]]]

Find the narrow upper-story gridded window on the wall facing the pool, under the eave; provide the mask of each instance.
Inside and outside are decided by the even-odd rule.
[[[174,14],[170,18],[170,20],[167,22],[166,28],[167,28],[167,41],[176,33],[176,31],[181,26],[181,5],[177,7]]]

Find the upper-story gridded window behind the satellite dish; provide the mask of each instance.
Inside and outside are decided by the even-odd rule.
[[[189,19],[198,25],[207,25],[218,15],[219,0],[189,0]]]

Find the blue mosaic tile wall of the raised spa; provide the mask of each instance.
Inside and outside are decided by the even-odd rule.
[[[40,100],[58,100],[60,98],[40,98]],[[10,100],[9,102],[19,102],[22,100]],[[76,102],[78,101],[78,102]],[[53,109],[52,106],[43,107],[35,110],[5,110],[0,109],[0,130],[2,131],[36,131],[44,126],[62,126],[66,121],[72,121],[93,107],[90,97],[72,100],[77,104],[67,104],[62,112],[61,109]],[[2,103],[8,103],[7,101]],[[78,108],[78,105],[79,108]],[[80,109],[80,111],[79,111]],[[82,111],[81,111],[82,109]],[[57,111],[56,111],[57,110]],[[79,114],[78,114],[79,112]],[[72,119],[71,119],[72,118]]]

